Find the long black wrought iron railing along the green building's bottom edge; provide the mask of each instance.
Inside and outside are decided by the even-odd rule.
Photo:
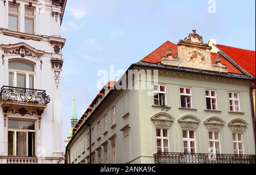
[[[255,155],[159,152],[156,164],[255,164]]]

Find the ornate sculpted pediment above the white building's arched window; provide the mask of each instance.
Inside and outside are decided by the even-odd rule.
[[[18,44],[0,45],[5,50],[5,55],[19,55],[20,57],[31,57],[34,59],[40,59],[44,54],[43,50],[37,50],[31,46],[20,42]]]

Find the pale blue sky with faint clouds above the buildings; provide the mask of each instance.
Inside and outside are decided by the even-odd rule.
[[[208,11],[212,2],[215,13]],[[71,125],[73,97],[79,118],[96,97],[98,70],[110,65],[127,70],[192,29],[204,42],[215,37],[218,44],[255,50],[255,1],[68,0],[61,26],[61,37],[67,39],[61,75],[63,139]]]

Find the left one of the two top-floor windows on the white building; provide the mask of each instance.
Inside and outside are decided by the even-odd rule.
[[[9,30],[19,32],[19,5],[9,4]]]

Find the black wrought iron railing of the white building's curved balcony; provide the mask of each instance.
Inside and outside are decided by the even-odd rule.
[[[15,101],[23,103],[48,104],[51,99],[46,91],[3,86],[0,92],[0,101]]]

